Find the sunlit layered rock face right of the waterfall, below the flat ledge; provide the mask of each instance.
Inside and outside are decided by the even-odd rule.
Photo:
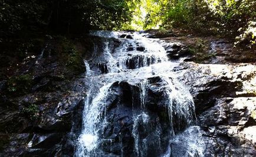
[[[175,71],[179,80],[191,87],[201,128],[199,131],[194,128],[191,136],[202,136],[204,156],[255,156],[256,66],[188,62]],[[174,140],[173,151],[186,136]],[[182,152],[173,153],[173,156],[182,155]]]

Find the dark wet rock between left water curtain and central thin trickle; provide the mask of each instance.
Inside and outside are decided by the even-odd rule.
[[[132,96],[137,90],[137,86],[127,82],[115,82],[111,86],[112,92],[108,95],[106,102],[106,119],[110,125],[107,125],[101,134],[105,139],[101,143],[104,151],[120,155],[123,150],[124,155],[132,154],[134,143]]]

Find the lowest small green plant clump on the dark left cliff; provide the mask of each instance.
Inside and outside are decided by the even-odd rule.
[[[37,105],[29,104],[25,108],[22,108],[21,113],[22,115],[27,116],[31,121],[34,121],[35,119],[38,118],[39,109]]]

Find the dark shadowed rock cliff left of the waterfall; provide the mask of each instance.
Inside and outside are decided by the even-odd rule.
[[[40,53],[1,67],[12,76],[0,82],[0,156],[73,155],[86,95],[79,77],[91,54],[80,45],[91,40],[74,43],[47,40]]]

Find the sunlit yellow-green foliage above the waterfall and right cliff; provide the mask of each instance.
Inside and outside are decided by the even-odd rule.
[[[202,34],[229,36],[255,45],[256,1],[180,0],[135,1],[134,28],[184,28]],[[127,26],[126,26],[127,27]]]

